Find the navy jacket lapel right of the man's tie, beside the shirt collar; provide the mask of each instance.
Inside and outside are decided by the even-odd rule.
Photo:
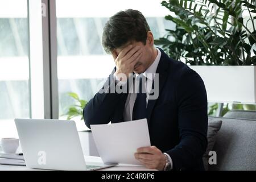
[[[160,48],[159,48],[159,50],[161,51],[162,54],[160,57],[158,68],[156,69],[156,73],[159,74],[159,96],[160,96],[161,90],[166,82],[167,77],[168,77],[169,62],[168,62],[168,56],[166,55],[166,53],[164,53],[163,50]],[[154,86],[154,85],[155,85],[155,80],[153,81],[152,86]],[[148,103],[147,103],[147,122],[148,123],[150,123],[150,117],[152,114],[152,110],[154,109],[154,106],[155,106],[157,100],[158,100],[158,98],[155,100],[148,100]]]

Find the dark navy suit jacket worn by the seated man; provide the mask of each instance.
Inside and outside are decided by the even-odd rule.
[[[204,82],[187,65],[160,51],[159,97],[147,104],[151,145],[171,156],[174,170],[204,170],[208,127]],[[106,90],[115,86],[111,79],[113,75]],[[86,126],[123,122],[126,98],[127,93],[97,93],[84,109]]]

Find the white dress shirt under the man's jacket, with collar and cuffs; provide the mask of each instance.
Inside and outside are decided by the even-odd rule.
[[[158,48],[156,48],[158,51],[158,55],[156,56],[156,59],[154,60],[154,62],[150,65],[150,67],[147,68],[147,70],[142,73],[144,77],[147,78],[147,81],[144,83],[144,86],[146,88],[147,91],[147,97],[146,97],[146,101],[148,103],[148,96],[149,93],[151,91],[152,88],[152,83],[154,81],[154,75],[156,73],[156,69],[158,68],[158,64],[160,61],[160,57],[161,57],[161,52]],[[136,78],[138,78],[138,74],[135,74]],[[116,82],[120,82],[119,78],[115,75],[114,73],[114,77],[115,77],[115,81]],[[123,82],[123,84],[125,84],[125,82]],[[123,110],[123,120],[124,121],[132,121],[133,120],[133,107],[135,104],[135,100],[137,98],[137,93],[133,93],[131,92],[131,90],[133,90],[133,85],[129,88],[129,94],[127,96],[126,102],[125,102],[125,109]],[[166,154],[166,153],[164,153]],[[170,157],[170,155],[166,154],[171,162],[171,168],[172,168],[172,159]]]

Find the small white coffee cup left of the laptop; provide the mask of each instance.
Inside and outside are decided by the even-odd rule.
[[[18,138],[2,138],[1,139],[1,148],[6,154],[14,154],[19,147]]]

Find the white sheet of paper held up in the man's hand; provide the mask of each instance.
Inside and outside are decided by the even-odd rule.
[[[147,119],[90,127],[104,163],[141,165],[134,153],[139,147],[150,146]]]

